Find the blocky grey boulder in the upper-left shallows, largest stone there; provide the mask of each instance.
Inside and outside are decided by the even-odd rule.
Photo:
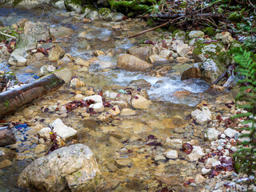
[[[26,22],[24,34],[30,34],[37,41],[50,38],[50,26],[46,22]]]

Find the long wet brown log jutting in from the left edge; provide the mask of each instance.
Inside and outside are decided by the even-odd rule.
[[[62,78],[50,74],[25,86],[2,92],[0,94],[0,118],[20,109],[22,106],[29,105],[34,99],[58,89],[64,83]]]

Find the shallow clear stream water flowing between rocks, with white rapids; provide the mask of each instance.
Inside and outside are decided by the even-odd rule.
[[[126,53],[126,50],[143,39],[149,38],[151,41],[157,41],[162,36],[170,35],[164,31],[151,31],[137,38],[126,38],[130,31],[134,34],[145,30],[146,23],[139,20],[126,20],[122,22],[104,22],[97,21],[84,24],[70,17],[63,17],[63,13],[57,10],[34,10],[27,11],[14,9],[0,9],[0,20],[6,26],[11,26],[21,18],[29,18],[32,22],[48,22],[51,27],[66,26],[74,30],[74,34],[66,38],[59,38],[59,45],[66,53],[74,57],[89,59],[93,57],[94,50],[102,50],[106,53],[114,50],[116,53]],[[117,32],[112,30],[112,26],[122,25],[129,30]],[[78,38],[78,34],[86,31],[86,38]],[[116,65],[116,56],[100,56],[100,61],[112,62]],[[20,82],[34,81],[34,75],[42,65],[53,64],[47,61],[33,62],[29,66],[7,66],[6,62],[0,63],[0,70],[12,70],[17,75]],[[78,130],[78,138],[68,142],[84,143],[90,146],[97,158],[100,170],[106,181],[105,191],[154,191],[154,187],[160,185],[159,181],[170,183],[177,191],[195,191],[200,189],[200,185],[190,190],[182,187],[186,177],[196,173],[196,165],[192,162],[186,162],[185,154],[179,151],[177,160],[155,160],[158,155],[169,149],[168,146],[150,146],[148,136],[154,135],[158,142],[162,144],[166,138],[182,138],[184,141],[195,139],[198,142],[203,141],[201,130],[196,127],[186,126],[182,129],[168,128],[168,121],[179,115],[186,117],[194,110],[202,99],[214,98],[214,94],[204,94],[208,84],[202,80],[181,81],[181,73],[192,63],[170,63],[172,71],[165,77],[153,77],[142,72],[127,72],[124,70],[100,70],[97,65],[91,66],[89,73],[78,73],[78,77],[86,82],[86,86],[93,86],[95,90],[109,90],[111,85],[127,86],[129,82],[136,79],[145,79],[151,83],[148,90],[149,98],[154,102],[148,110],[136,110],[133,116],[122,116],[114,118],[111,122],[98,122],[95,115],[90,118],[78,117],[78,113],[72,111],[68,116],[62,118],[62,121],[74,129]],[[28,73],[28,69],[33,72]],[[188,90],[189,96],[177,97],[175,92],[178,90]],[[79,91],[79,90],[74,90]],[[95,91],[96,92],[96,91]],[[44,113],[42,107],[57,105],[59,101],[72,100],[72,90],[68,85],[54,93],[47,94],[44,99],[35,102],[28,109],[32,114],[26,116],[23,110],[18,111],[14,116],[7,120],[29,122],[31,129],[34,129],[38,122],[43,126],[55,118],[60,118],[58,114]],[[41,120],[41,121],[39,121]],[[189,120],[186,120],[190,122]],[[33,132],[33,131],[32,131]],[[35,131],[36,133],[36,131]],[[18,137],[20,134],[18,134]],[[13,166],[7,167],[0,172],[0,191],[26,191],[18,189],[15,182],[18,173],[32,159],[34,145],[18,148],[18,153],[32,154],[31,158],[23,161],[16,161]],[[25,151],[25,152],[24,152]],[[129,160],[127,165],[117,164],[117,159]]]

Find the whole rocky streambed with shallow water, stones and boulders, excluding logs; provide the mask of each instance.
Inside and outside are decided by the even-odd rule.
[[[2,119],[17,142],[0,148],[1,191],[248,189],[231,158],[242,125],[230,121],[246,111],[225,86],[208,90],[232,63],[226,48],[240,45],[230,34],[128,38],[146,22],[13,13],[1,10],[20,35],[15,48],[0,44],[0,70],[31,82],[65,68],[66,84]]]

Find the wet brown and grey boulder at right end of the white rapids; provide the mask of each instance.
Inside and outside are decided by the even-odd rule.
[[[188,78],[202,78],[210,84],[215,82],[218,77],[225,71],[225,67],[208,58],[205,62],[195,63],[182,73],[182,80]]]

